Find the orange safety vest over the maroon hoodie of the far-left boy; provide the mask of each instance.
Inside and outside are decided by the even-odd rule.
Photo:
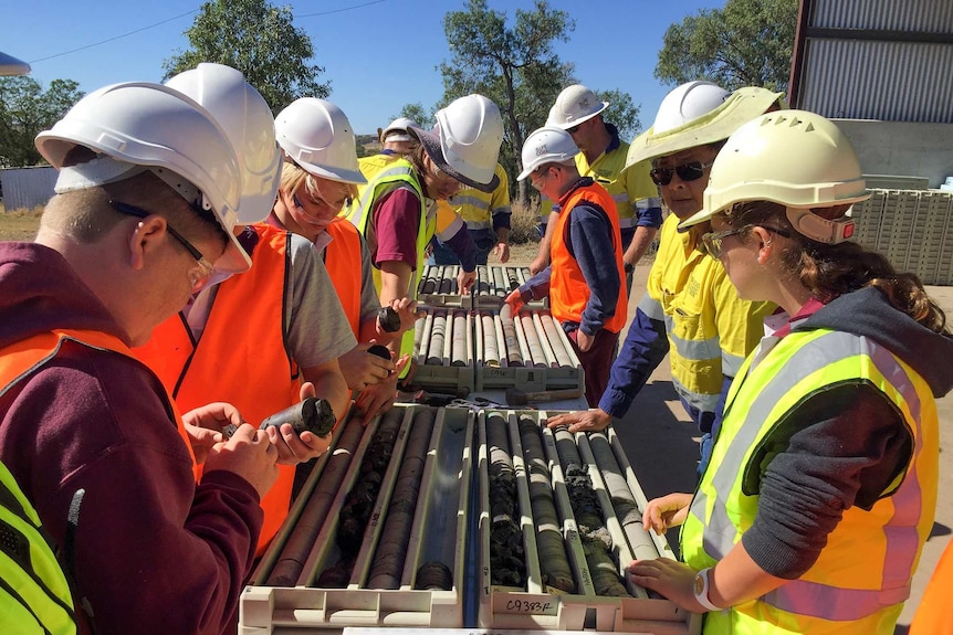
[[[34,335],[0,349],[0,394],[55,358],[63,347],[63,342],[66,340],[95,350],[117,352],[137,360],[136,354],[129,347],[116,336],[85,329],[53,329],[52,331]],[[195,464],[196,455],[192,452],[192,443],[189,440],[188,433],[186,433],[186,427],[182,424],[182,417],[176,408],[176,403],[169,396],[168,392],[164,392],[159,396],[166,402],[166,410],[174,420],[176,430],[179,431],[179,436],[186,443],[189,458]]]

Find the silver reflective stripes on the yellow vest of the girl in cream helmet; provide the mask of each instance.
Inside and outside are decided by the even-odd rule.
[[[708,555],[721,560],[739,540],[737,528],[729,519],[725,504],[729,496],[735,495],[739,472],[744,469],[746,464],[745,456],[764,432],[763,425],[755,422],[769,421],[774,409],[790,392],[790,387],[797,385],[815,372],[852,357],[870,359],[883,380],[902,396],[910,412],[910,419],[918,427],[920,426],[921,402],[917,388],[904,368],[886,348],[869,339],[837,331],[806,342],[790,354],[783,367],[784,371],[771,378],[748,406],[744,421],[736,427],[735,434],[727,440],[730,445],[720,461],[711,486],[699,489],[691,504],[690,514],[703,527],[703,548]],[[740,378],[739,381],[744,379]],[[730,403],[725,408],[725,419],[732,414],[731,409],[737,390],[741,390],[740,385],[732,390]],[[923,444],[920,430],[914,432],[914,438],[919,451]],[[887,532],[883,572],[886,589],[848,590],[793,580],[761,600],[781,611],[834,621],[858,620],[904,601],[909,595],[908,581],[912,576],[912,565],[915,562],[920,541],[915,520],[922,506],[922,491],[915,469],[914,461],[903,480],[903,486],[891,497],[891,504],[896,510],[894,520],[898,522],[884,528]],[[716,493],[711,519],[706,523],[704,514],[709,507],[709,500],[704,494],[705,490]]]

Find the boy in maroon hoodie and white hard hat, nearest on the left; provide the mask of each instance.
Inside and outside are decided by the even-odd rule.
[[[217,271],[248,269],[232,230],[268,209],[243,204],[251,176],[219,123],[159,84],[87,95],[36,147],[60,178],[35,242],[0,244],[0,459],[59,546],[88,631],[221,633],[279,449],[247,424],[213,443],[208,427],[241,424],[237,410],[181,417],[129,347]]]

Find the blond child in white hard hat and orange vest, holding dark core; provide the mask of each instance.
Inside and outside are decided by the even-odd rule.
[[[357,194],[357,186],[367,182],[358,169],[354,133],[344,112],[325,99],[303,97],[277,114],[275,133],[285,160],[268,222],[306,237],[323,252],[337,297],[359,342],[337,361],[347,387],[360,393],[356,399],[358,409],[368,419],[376,416],[394,403],[394,371],[402,369],[408,358],[395,366],[389,358],[367,351],[374,343],[387,345],[412,327],[417,305],[407,298],[390,303],[401,318],[399,331],[387,332],[377,320],[380,301],[374,288],[370,252],[357,229],[339,215]]]

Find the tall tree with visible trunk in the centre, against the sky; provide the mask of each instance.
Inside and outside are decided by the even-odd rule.
[[[492,11],[486,0],[469,0],[463,11],[443,17],[451,59],[440,64],[443,104],[470,93],[493,99],[503,115],[501,162],[515,177],[522,170],[520,149],[526,136],[543,125],[559,91],[572,83],[572,65],[564,64],[553,43],[565,42],[576,28],[565,11],[536,0],[533,11]],[[511,182],[516,182],[511,178]],[[517,183],[519,201],[528,203],[525,181]]]

